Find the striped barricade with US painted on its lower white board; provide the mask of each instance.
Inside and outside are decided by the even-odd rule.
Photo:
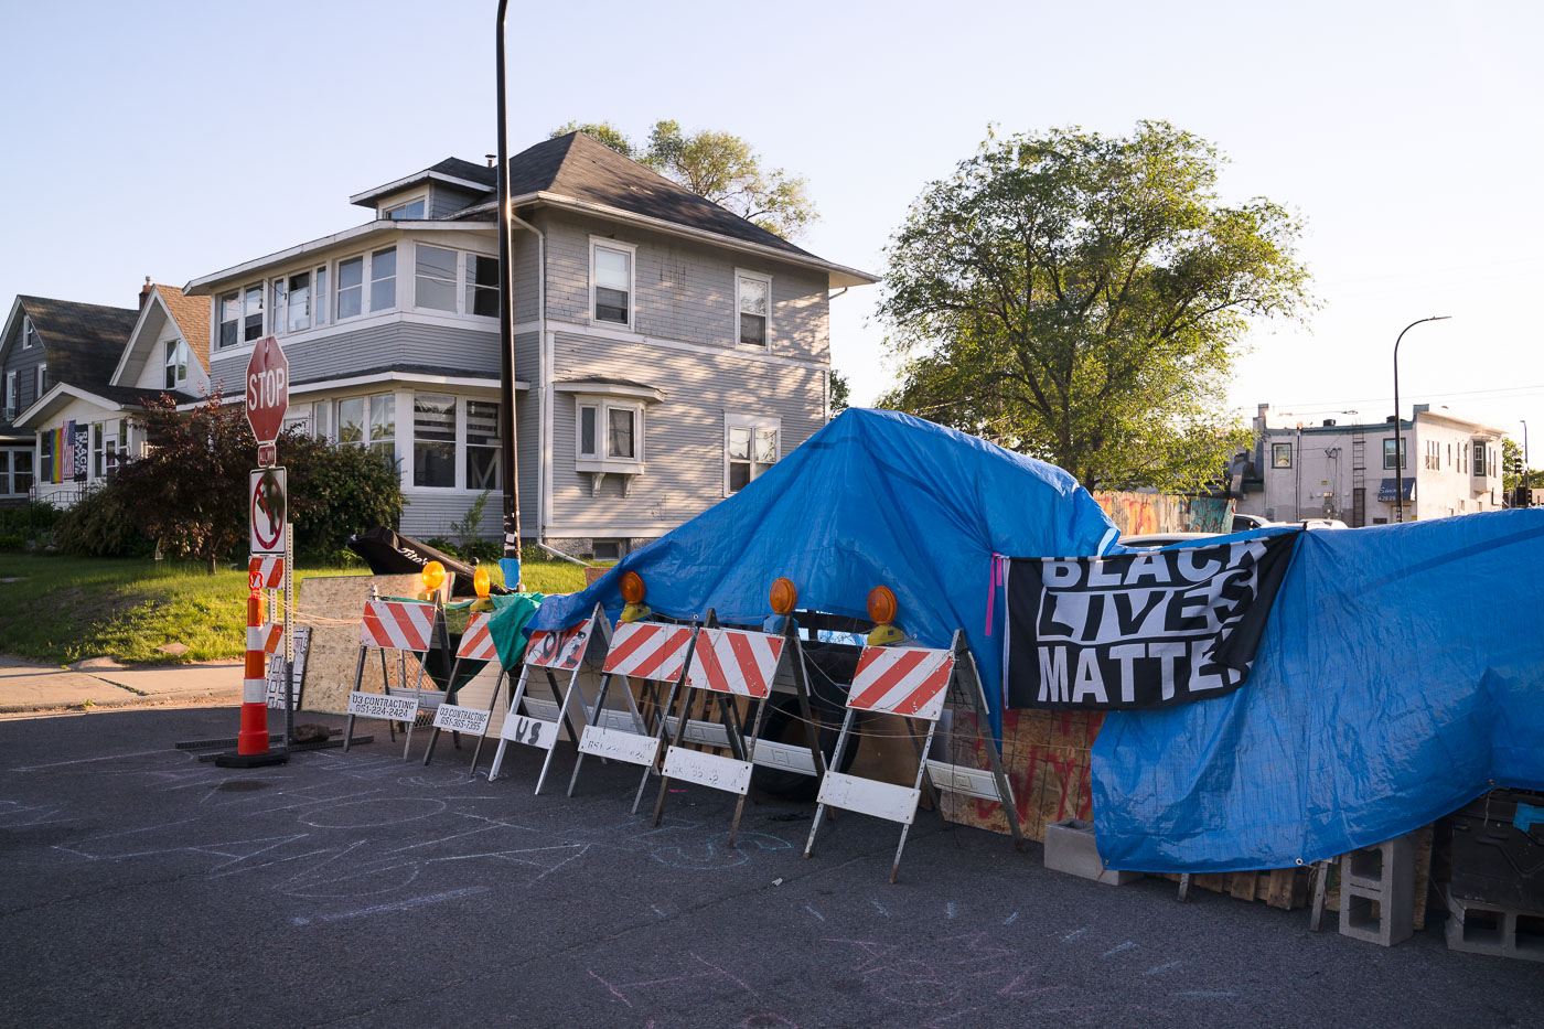
[[[553,748],[557,746],[557,735],[567,728],[568,737],[579,740],[574,728],[574,714],[584,717],[584,695],[579,692],[579,677],[587,666],[601,663],[611,638],[611,626],[605,620],[605,612],[596,604],[588,618],[567,629],[537,629],[525,644],[525,660],[520,664],[520,681],[514,688],[510,700],[510,711],[503,717],[499,729],[499,749],[493,756],[493,768],[488,769],[488,780],[499,777],[503,766],[503,754],[510,743],[525,743],[547,751],[542,760],[542,771],[536,779],[536,793],[542,791],[547,782],[547,769],[553,763]],[[533,675],[533,671],[536,672]],[[568,677],[567,686],[559,684],[557,677]],[[530,694],[533,678],[542,678],[551,691],[551,701],[536,700]],[[574,705],[574,694],[579,703]],[[547,715],[547,717],[543,717]]]

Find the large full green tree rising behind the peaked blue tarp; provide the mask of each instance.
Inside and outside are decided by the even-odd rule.
[[[1297,219],[1224,205],[1223,158],[1166,122],[980,145],[913,204],[880,315],[902,358],[882,397],[1070,471],[1186,491],[1249,445],[1223,394],[1258,317],[1302,317]]]

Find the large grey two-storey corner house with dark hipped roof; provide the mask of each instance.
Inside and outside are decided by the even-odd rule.
[[[824,425],[828,297],[872,275],[579,133],[510,168],[527,539],[619,556]],[[290,420],[397,460],[409,535],[446,535],[485,490],[483,535],[500,531],[494,178],[442,161],[352,196],[363,226],[187,286],[210,297],[215,385],[239,399],[276,335]]]

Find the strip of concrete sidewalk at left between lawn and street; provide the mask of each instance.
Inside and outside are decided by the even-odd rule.
[[[239,705],[242,663],[124,666],[108,658],[69,669],[0,655],[0,715],[159,705]]]

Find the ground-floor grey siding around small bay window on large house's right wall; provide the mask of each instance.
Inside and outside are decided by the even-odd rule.
[[[781,419],[780,459],[824,425],[826,371],[786,363],[662,351],[648,343],[598,340],[557,331],[553,355],[557,382],[587,377],[627,379],[664,391],[645,405],[644,473],[631,496],[622,477],[605,476],[591,496],[591,476],[576,471],[576,399],[553,403],[554,538],[658,536],[726,496],[724,416]]]

